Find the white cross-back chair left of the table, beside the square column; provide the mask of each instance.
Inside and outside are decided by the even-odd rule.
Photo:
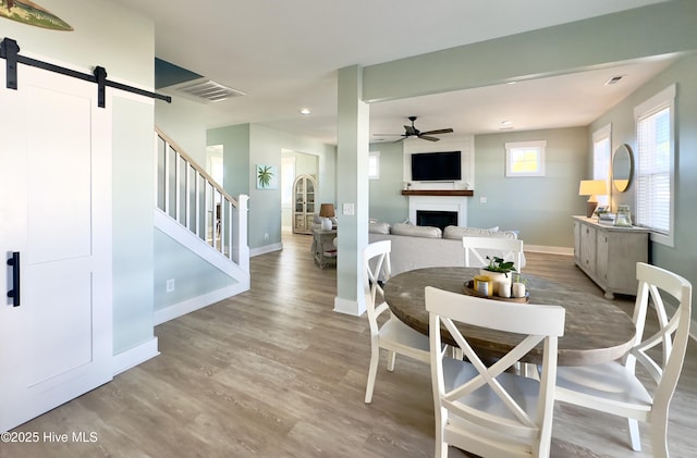
[[[381,282],[390,280],[390,251],[391,240],[381,240],[369,244],[363,250],[364,290],[368,322],[370,324],[370,369],[368,370],[368,384],[366,386],[366,404],[372,401],[375,380],[378,374],[380,361],[380,348],[389,351],[388,370],[394,370],[396,354],[428,363],[428,337],[401,322],[392,314],[387,302],[376,304],[378,293],[382,298]],[[389,318],[380,325],[382,313]]]

